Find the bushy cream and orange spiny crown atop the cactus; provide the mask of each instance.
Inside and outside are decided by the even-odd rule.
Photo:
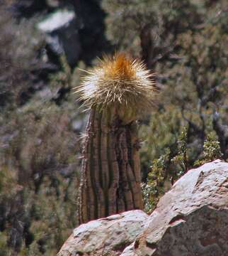
[[[118,53],[86,71],[76,92],[89,107],[115,107],[125,123],[139,118],[153,107],[156,89],[153,74],[139,60]]]

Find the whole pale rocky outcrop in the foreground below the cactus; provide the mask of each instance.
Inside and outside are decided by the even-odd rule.
[[[131,221],[126,221],[127,216]],[[110,220],[115,225],[107,225]],[[132,222],[130,239],[137,238],[129,245],[123,234],[128,234]],[[91,223],[96,228],[91,230]],[[113,250],[116,244],[119,250]],[[76,250],[81,250],[78,255],[227,256],[228,164],[216,160],[188,171],[148,218],[133,210],[79,226],[59,256],[77,255]]]

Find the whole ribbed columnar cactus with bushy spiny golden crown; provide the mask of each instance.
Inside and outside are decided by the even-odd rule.
[[[79,89],[91,113],[81,167],[79,223],[142,209],[137,122],[153,107],[154,81],[123,54],[105,58]]]

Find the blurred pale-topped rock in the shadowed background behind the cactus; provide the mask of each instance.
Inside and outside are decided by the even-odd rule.
[[[65,53],[70,65],[75,65],[81,54],[79,28],[76,14],[70,9],[58,9],[38,23],[38,29],[46,34],[46,41],[54,53]]]

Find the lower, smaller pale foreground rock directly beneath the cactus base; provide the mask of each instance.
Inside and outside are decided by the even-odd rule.
[[[148,217],[142,210],[130,210],[91,220],[74,229],[57,256],[120,255],[142,232]]]

